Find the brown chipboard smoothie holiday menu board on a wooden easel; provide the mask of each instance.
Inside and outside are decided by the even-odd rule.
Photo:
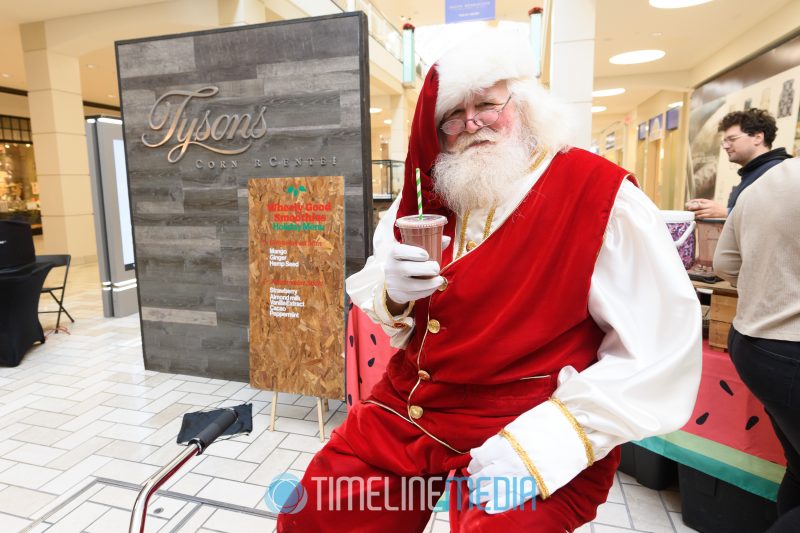
[[[344,397],[344,177],[248,181],[250,384]]]

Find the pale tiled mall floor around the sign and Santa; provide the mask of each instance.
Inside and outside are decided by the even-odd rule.
[[[280,394],[270,432],[271,392],[145,370],[138,316],[103,318],[98,286],[96,265],[74,266],[70,334],[51,334],[19,367],[0,368],[0,531],[127,531],[136,485],[183,449],[175,444],[183,414],[242,402],[253,404],[253,433],[187,464],[151,502],[148,531],[274,530],[264,489],[278,473],[301,475],[322,446],[315,399]],[[55,315],[42,319],[55,325]],[[326,434],[344,417],[331,401]],[[680,510],[677,491],[618,473],[597,520],[578,531],[692,531]],[[446,514],[428,531],[449,531]]]

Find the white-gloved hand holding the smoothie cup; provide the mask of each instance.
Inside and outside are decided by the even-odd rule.
[[[450,237],[442,237],[442,249],[449,244]],[[424,248],[394,242],[383,265],[386,294],[398,304],[430,296],[444,283],[439,270],[439,263],[428,261]]]

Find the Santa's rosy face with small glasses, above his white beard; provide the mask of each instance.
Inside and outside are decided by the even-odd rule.
[[[458,106],[446,112],[442,118],[442,123],[458,119],[467,120],[481,111],[496,109],[500,110],[508,101],[509,92],[505,82],[498,82],[485,89],[480,94],[475,95],[463,106]],[[488,131],[487,131],[488,130]],[[477,149],[481,146],[489,146],[519,132],[519,116],[517,113],[514,99],[512,98],[503,108],[499,118],[493,124],[481,128],[475,125],[472,120],[466,123],[466,128],[461,133],[447,135],[442,133],[444,151],[449,153],[462,153]]]

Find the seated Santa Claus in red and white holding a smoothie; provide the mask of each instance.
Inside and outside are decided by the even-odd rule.
[[[572,531],[621,443],[691,414],[701,315],[672,240],[630,174],[570,147],[533,65],[490,32],[428,73],[403,194],[347,280],[398,352],[278,531],[422,531],[416,496],[444,491],[452,531]],[[393,228],[417,212],[416,169],[424,211],[447,217],[441,264]]]

